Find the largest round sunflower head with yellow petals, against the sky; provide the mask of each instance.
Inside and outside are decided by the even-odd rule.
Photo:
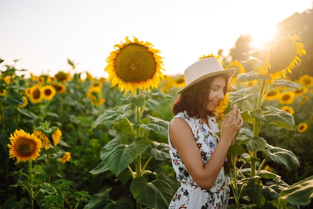
[[[112,86],[118,85],[121,91],[131,91],[134,94],[136,89],[150,90],[155,89],[160,84],[160,78],[163,77],[161,69],[163,61],[158,55],[160,50],[154,49],[149,42],[139,41],[133,38],[133,41],[125,38],[126,42],[115,44],[116,50],[111,51],[106,58],[108,63],[104,68],[108,72],[108,81]]]

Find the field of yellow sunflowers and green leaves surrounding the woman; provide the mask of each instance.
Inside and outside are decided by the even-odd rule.
[[[149,42],[126,37],[114,49],[108,78],[26,77],[1,65],[1,208],[168,207],[179,184],[167,127],[184,77],[163,75],[160,51]],[[294,34],[248,54],[252,69],[216,56],[238,72],[220,105],[236,103],[244,119],[227,155],[236,162],[227,208],[310,207],[313,77],[288,79],[305,54]]]

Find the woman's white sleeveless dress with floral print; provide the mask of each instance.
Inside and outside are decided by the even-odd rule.
[[[194,141],[199,147],[202,160],[206,163],[214,152],[219,140],[219,137],[216,135],[219,129],[215,118],[207,117],[209,127],[200,118],[188,117],[186,112],[177,113],[173,119],[175,118],[182,118],[189,124]],[[176,172],[177,180],[180,181],[180,186],[169,203],[168,209],[226,208],[230,189],[227,186],[229,184],[229,177],[225,176],[224,167],[220,169],[211,189],[202,189],[188,173],[177,150],[171,145],[169,135],[168,144],[172,166]]]

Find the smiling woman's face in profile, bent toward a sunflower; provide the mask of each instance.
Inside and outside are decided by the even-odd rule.
[[[206,110],[214,111],[218,102],[224,98],[223,88],[225,85],[226,82],[223,76],[217,76],[214,78],[211,84],[210,92],[208,94]]]

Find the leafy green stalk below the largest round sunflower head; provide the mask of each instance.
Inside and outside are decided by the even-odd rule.
[[[126,93],[120,98],[130,102],[129,104],[104,111],[92,124],[92,127],[95,127],[111,122],[117,132],[102,148],[100,153],[102,162],[91,170],[91,173],[97,174],[109,169],[120,177],[126,176],[123,171],[127,170],[131,176],[129,189],[136,200],[136,208],[142,208],[142,204],[150,208],[165,208],[178,187],[174,176],[169,176],[161,169],[155,171],[148,169],[153,158],[170,159],[168,144],[153,141],[145,135],[146,131],[167,135],[168,122],[148,114],[146,107],[149,100],[164,97],[169,96],[158,92],[140,92],[138,89],[134,95]],[[120,134],[121,132],[123,134]],[[128,208],[133,208],[130,198],[116,201],[116,207],[121,208],[125,201]],[[90,203],[86,206],[94,208],[92,205]]]

